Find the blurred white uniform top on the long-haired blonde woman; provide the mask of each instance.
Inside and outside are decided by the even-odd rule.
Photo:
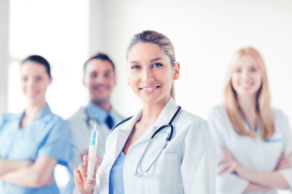
[[[225,157],[220,146],[225,147],[244,169],[253,172],[272,172],[275,170],[281,153],[292,151],[292,134],[285,115],[279,110],[272,110],[275,133],[267,141],[263,140],[259,131],[254,138],[239,135],[233,128],[224,105],[214,107],[208,115],[213,134],[219,144],[219,160]],[[248,129],[248,126],[246,126]],[[218,166],[218,170],[221,166]],[[292,186],[292,168],[280,170],[279,173]],[[217,194],[241,194],[249,182],[236,174],[217,176]],[[257,192],[257,194],[274,194],[276,190]]]

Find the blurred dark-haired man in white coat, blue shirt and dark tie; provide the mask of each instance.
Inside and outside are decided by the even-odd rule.
[[[114,64],[105,54],[98,53],[84,64],[83,84],[89,92],[89,102],[68,119],[71,128],[72,160],[69,162],[69,183],[65,193],[72,193],[75,187],[73,170],[83,163],[83,156],[88,154],[91,130],[95,123],[99,131],[97,156],[102,161],[105,142],[110,129],[123,118],[110,104],[112,88],[116,84]]]

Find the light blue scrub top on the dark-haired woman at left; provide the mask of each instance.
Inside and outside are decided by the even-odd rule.
[[[23,114],[0,115],[0,158],[34,162],[37,157],[51,157],[67,165],[70,156],[67,122],[46,105],[29,126],[20,129]],[[59,193],[56,183],[41,188],[26,188],[1,180],[0,184],[0,193]]]

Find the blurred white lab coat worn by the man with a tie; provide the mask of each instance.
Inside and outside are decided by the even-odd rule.
[[[87,124],[88,116],[91,117],[89,120],[89,126]],[[124,120],[119,114],[113,112],[113,119],[116,124]],[[92,119],[93,118],[93,119]],[[83,159],[80,157],[81,154],[84,154],[85,150],[89,148],[89,140],[91,130],[93,130],[93,126],[95,123],[95,115],[93,115],[90,111],[86,110],[86,107],[80,107],[79,110],[74,113],[68,120],[70,130],[71,130],[71,159],[68,163],[70,172],[69,176],[69,184],[66,188],[66,193],[74,188],[74,177],[73,171],[77,169],[80,164],[83,164]],[[109,134],[109,127],[105,124],[96,123],[96,130],[98,133],[98,148],[97,148],[97,156],[100,157],[100,161],[102,161],[103,154],[105,153],[105,142],[106,138]],[[73,187],[72,187],[73,186]],[[67,191],[68,190],[68,191]]]

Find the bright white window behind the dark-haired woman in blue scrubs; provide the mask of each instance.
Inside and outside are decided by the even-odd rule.
[[[9,28],[9,112],[21,112],[26,106],[19,64],[32,54],[51,64],[53,83],[46,98],[55,114],[67,118],[87,103],[82,71],[89,57],[88,0],[10,0]]]

